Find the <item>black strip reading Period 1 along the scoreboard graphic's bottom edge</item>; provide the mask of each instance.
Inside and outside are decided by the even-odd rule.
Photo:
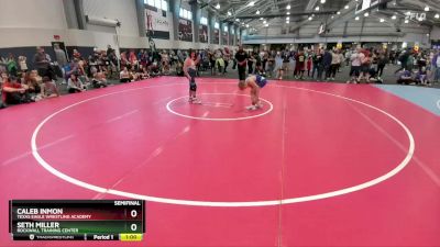
[[[69,234],[69,235],[44,235],[44,234],[13,234],[13,240],[119,240],[119,234]]]

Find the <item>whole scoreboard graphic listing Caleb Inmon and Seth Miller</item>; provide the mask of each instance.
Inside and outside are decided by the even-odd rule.
[[[145,233],[143,200],[11,200],[13,240],[140,242]]]

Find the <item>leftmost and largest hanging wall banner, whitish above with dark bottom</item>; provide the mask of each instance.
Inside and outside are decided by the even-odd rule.
[[[172,23],[173,20],[169,13],[151,5],[145,5],[146,36],[169,40]]]

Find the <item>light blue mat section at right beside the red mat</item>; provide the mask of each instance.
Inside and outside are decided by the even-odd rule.
[[[440,116],[440,89],[396,85],[376,85],[376,87]]]

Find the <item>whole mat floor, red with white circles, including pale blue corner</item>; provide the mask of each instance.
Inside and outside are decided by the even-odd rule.
[[[141,243],[440,246],[438,89],[160,77],[0,112],[0,200],[143,199]],[[0,246],[12,242],[0,212]],[[82,244],[82,243],[81,243]],[[85,243],[82,245],[86,245]]]

